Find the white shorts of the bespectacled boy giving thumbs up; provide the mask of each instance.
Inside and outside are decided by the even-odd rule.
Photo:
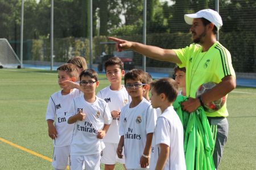
[[[100,170],[101,169],[101,154],[93,155],[70,155],[70,169],[82,170],[82,164],[85,165],[86,170]]]

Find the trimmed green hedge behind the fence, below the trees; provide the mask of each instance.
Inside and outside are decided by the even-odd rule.
[[[251,32],[220,32],[220,42],[232,55],[234,69],[237,72],[253,73],[256,71],[256,33]],[[121,39],[142,42],[142,35],[117,36]],[[100,44],[108,41],[106,36],[93,38],[93,63],[100,62],[102,52],[110,54],[115,50],[114,44]],[[192,42],[190,33],[152,33],[147,34],[147,44],[161,48],[183,48]],[[50,61],[49,40],[32,40],[32,59],[38,61]],[[54,40],[54,54],[56,62],[65,62],[72,56],[83,56],[89,63],[89,40],[85,38],[67,37]],[[173,67],[168,62],[155,61],[147,58],[147,67]],[[134,53],[135,65],[142,65],[142,56]]]

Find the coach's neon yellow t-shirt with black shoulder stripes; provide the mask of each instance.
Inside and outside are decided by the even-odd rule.
[[[186,94],[193,98],[201,84],[220,83],[225,76],[236,76],[230,53],[220,42],[216,41],[207,52],[201,52],[202,49],[199,44],[191,44],[174,50],[181,61],[178,66],[186,67]],[[227,117],[226,103],[217,112],[205,113],[209,117]]]

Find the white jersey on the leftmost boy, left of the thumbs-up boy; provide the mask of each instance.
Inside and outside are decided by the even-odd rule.
[[[73,99],[80,95],[83,95],[81,91],[73,89],[68,95],[61,95],[61,91],[58,91],[49,97],[46,120],[55,121],[57,130],[57,138],[53,140],[53,146],[70,145],[74,125],[69,125],[65,116],[71,108]]]

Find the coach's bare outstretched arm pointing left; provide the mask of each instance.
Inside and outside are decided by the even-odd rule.
[[[118,52],[123,50],[131,49],[135,52],[143,54],[149,58],[157,59],[159,61],[168,61],[173,63],[181,63],[180,59],[177,57],[176,53],[172,49],[162,49],[157,46],[144,45],[139,42],[132,42],[117,39],[115,37],[109,37],[109,40],[117,42],[115,48]]]

